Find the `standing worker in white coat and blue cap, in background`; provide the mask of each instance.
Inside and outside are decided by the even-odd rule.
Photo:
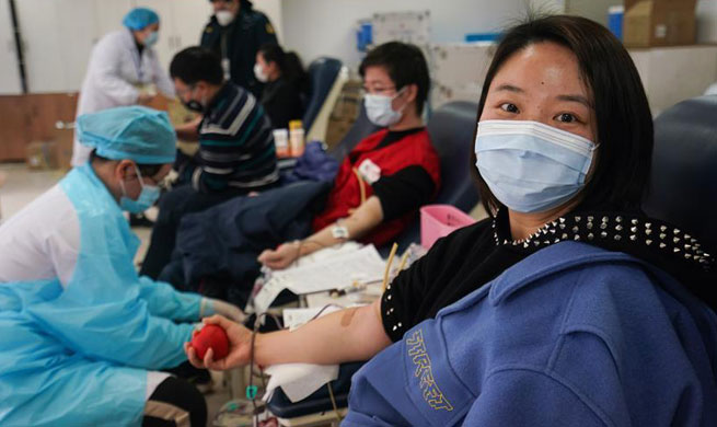
[[[136,8],[125,15],[123,24],[123,30],[106,34],[92,49],[77,117],[146,103],[151,96],[139,88],[147,84],[154,84],[165,96],[174,97],[174,85],[152,48],[159,36],[159,15],[151,9]],[[90,149],[76,135],[72,165],[80,166],[89,158]]]

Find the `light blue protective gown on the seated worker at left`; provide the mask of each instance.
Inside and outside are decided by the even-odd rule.
[[[85,164],[60,186],[80,223],[80,254],[58,279],[0,284],[0,425],[141,423],[148,370],[186,360],[197,295],[138,277],[139,239]]]

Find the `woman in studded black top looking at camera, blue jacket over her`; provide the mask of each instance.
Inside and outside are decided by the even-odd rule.
[[[230,354],[187,347],[192,362],[372,357],[345,426],[717,426],[712,251],[640,209],[652,118],[622,44],[579,16],[520,24],[477,113],[490,218],[440,239],[370,307],[254,339],[210,318]]]

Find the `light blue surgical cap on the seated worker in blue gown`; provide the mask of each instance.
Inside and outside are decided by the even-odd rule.
[[[140,164],[174,162],[176,134],[164,112],[124,106],[83,114],[77,119],[78,138],[99,155]]]

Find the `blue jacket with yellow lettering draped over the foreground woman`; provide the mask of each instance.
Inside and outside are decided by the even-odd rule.
[[[715,372],[710,309],[634,257],[566,242],[377,355],[342,425],[717,426]]]

